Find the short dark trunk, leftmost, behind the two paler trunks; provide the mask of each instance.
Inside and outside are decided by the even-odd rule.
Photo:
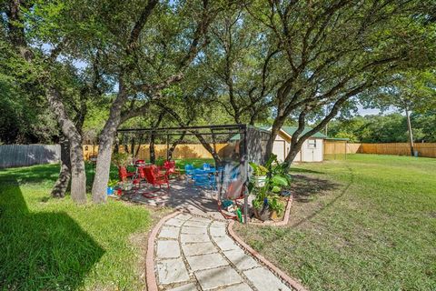
[[[61,146],[61,171],[52,189],[52,196],[63,198],[71,180],[70,142],[62,135],[59,141]]]

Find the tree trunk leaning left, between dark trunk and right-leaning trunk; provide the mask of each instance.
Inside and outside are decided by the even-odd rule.
[[[60,100],[59,92],[53,87],[50,87],[45,95],[50,107],[57,116],[57,121],[61,126],[62,133],[70,142],[71,197],[76,203],[86,203],[86,175],[82,136],[75,128],[73,121],[66,114],[64,105]]]

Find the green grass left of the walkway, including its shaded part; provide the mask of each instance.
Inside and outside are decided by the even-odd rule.
[[[50,198],[57,173],[53,165],[0,171],[0,289],[142,289],[149,210]]]

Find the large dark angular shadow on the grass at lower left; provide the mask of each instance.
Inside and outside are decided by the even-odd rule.
[[[29,212],[16,180],[2,183],[0,197],[0,289],[82,286],[104,249],[64,212]]]

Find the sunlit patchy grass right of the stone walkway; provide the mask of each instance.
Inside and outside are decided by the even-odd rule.
[[[285,227],[239,226],[311,290],[436,290],[436,159],[350,155],[292,167]]]

